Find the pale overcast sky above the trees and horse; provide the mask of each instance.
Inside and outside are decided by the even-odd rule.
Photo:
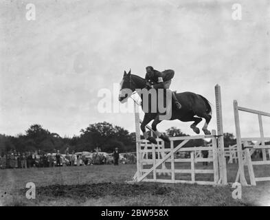
[[[0,3],[2,134],[41,124],[72,137],[104,121],[134,132],[134,113],[100,112],[100,94],[111,91],[113,97],[124,70],[144,77],[148,65],[174,69],[173,90],[210,100],[209,129],[216,129],[216,84],[224,132],[235,134],[233,100],[270,112],[268,0],[237,1],[241,20],[232,19],[235,1],[32,0],[34,21],[26,19],[27,3]],[[194,135],[191,123],[164,121],[158,129],[176,126]],[[257,115],[240,113],[240,123],[243,136],[258,137]],[[270,118],[263,124],[269,137]]]

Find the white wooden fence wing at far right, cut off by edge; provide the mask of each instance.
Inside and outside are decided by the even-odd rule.
[[[260,137],[241,137],[239,111],[245,111],[258,115]],[[236,181],[240,181],[243,186],[248,185],[247,180],[245,179],[245,166],[248,168],[250,184],[252,186],[256,186],[257,181],[270,181],[270,172],[269,176],[267,177],[255,177],[254,174],[254,166],[270,164],[270,145],[265,144],[265,142],[270,141],[270,137],[264,136],[262,116],[270,117],[270,113],[239,107],[238,102],[234,100],[234,122],[236,126],[237,154],[243,155],[243,157],[238,157],[238,173],[236,175]],[[255,150],[262,151],[262,160],[251,160],[251,154],[254,153]],[[269,159],[267,159],[267,151],[269,154]]]

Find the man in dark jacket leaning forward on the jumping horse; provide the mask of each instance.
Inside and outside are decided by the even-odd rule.
[[[172,69],[166,69],[164,72],[159,72],[153,67],[146,67],[146,87],[153,89],[169,89],[172,78],[175,76],[175,71]],[[177,109],[181,109],[181,104],[175,96],[175,92],[172,91],[172,100],[175,102]]]

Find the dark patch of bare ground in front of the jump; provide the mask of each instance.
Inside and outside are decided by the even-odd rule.
[[[99,183],[82,185],[51,185],[36,188],[36,195],[47,197],[97,198],[107,195],[135,196],[135,195],[168,195],[173,189],[161,186],[131,185],[119,183]],[[25,193],[25,190],[22,190]]]

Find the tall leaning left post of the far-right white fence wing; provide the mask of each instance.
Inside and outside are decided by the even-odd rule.
[[[245,179],[245,170],[244,170],[244,164],[243,164],[243,151],[242,151],[242,141],[241,141],[241,133],[240,133],[238,103],[236,100],[234,100],[234,122],[236,126],[238,172],[239,172],[240,184],[242,184],[243,186],[247,186],[247,180]]]

